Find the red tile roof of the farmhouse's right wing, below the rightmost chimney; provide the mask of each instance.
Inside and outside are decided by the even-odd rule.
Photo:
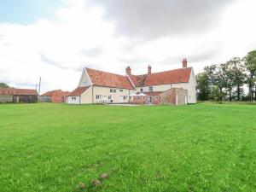
[[[145,75],[130,75],[132,83],[136,87],[158,85],[158,84],[177,84],[188,83],[192,68],[179,68],[171,71],[150,73]]]

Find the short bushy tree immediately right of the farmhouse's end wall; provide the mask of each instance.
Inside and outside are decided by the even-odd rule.
[[[209,94],[211,90],[210,80],[207,76],[207,73],[198,73],[195,79],[197,82],[196,89],[198,90],[198,100],[207,101],[209,99]]]

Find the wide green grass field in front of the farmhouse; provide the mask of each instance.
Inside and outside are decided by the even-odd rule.
[[[81,191],[79,182],[256,191],[256,106],[0,105],[0,191]]]

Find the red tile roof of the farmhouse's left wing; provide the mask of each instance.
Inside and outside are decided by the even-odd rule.
[[[90,80],[92,84],[105,86],[105,87],[123,88],[127,90],[133,89],[129,79],[123,75],[102,72],[102,71],[91,69],[91,68],[85,68],[85,69],[90,76]]]

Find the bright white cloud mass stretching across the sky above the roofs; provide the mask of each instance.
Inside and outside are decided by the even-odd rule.
[[[116,36],[116,23],[104,18],[103,8],[83,0],[65,0],[53,20],[30,25],[0,23],[0,81],[17,87],[73,90],[84,66],[124,73],[145,73],[181,66],[187,57],[195,72],[231,56],[255,49],[256,13],[253,0],[232,3],[205,32],[143,39]]]

